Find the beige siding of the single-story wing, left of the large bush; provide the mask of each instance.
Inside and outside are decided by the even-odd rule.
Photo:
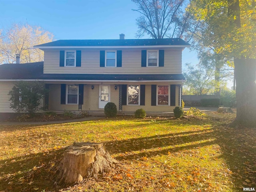
[[[14,84],[11,82],[0,82],[0,113],[13,113],[14,110],[10,108],[9,91]]]

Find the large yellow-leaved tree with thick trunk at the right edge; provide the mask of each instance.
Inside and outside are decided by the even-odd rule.
[[[190,12],[206,23],[204,45],[234,58],[236,123],[256,125],[256,3],[255,0],[191,0]]]

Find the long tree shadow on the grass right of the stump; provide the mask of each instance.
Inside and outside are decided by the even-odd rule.
[[[210,141],[208,140],[210,139]],[[206,141],[208,140],[208,141]],[[193,142],[198,142],[193,144]],[[190,144],[191,143],[191,144]],[[186,144],[174,148],[162,149],[168,146]],[[237,129],[215,125],[214,128],[164,134],[107,143],[107,149],[112,153],[137,151],[134,154],[124,154],[117,160],[138,160],[144,156],[152,157],[167,155],[168,152],[181,152],[193,148],[217,144],[222,154],[218,158],[225,160],[231,170],[236,190],[243,187],[256,186],[256,129]],[[145,150],[154,149],[154,150]],[[139,152],[138,152],[139,151]]]

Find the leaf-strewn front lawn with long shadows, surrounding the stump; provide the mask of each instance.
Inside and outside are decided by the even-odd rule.
[[[0,191],[242,191],[256,187],[256,128],[229,128],[234,114],[204,119],[118,117],[0,128]],[[104,142],[122,164],[56,188],[56,167],[73,142]]]

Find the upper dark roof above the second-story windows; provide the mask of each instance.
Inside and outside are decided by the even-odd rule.
[[[34,47],[43,46],[152,46],[152,45],[183,45],[190,46],[180,38],[166,39],[104,39],[104,40],[58,40]]]

